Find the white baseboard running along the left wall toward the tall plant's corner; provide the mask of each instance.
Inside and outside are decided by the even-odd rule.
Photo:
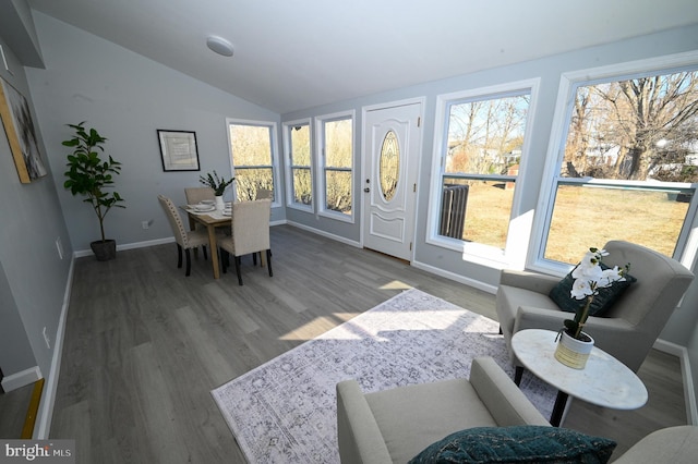
[[[92,253],[92,252],[91,252]],[[63,296],[63,305],[61,316],[58,319],[58,329],[56,331],[56,343],[53,345],[53,357],[51,358],[51,370],[48,379],[44,384],[44,393],[41,394],[41,404],[36,415],[37,427],[34,428],[34,439],[48,439],[51,429],[51,417],[53,417],[53,405],[56,404],[56,390],[58,389],[58,379],[61,370],[61,358],[63,355],[63,340],[65,339],[65,320],[68,318],[68,308],[70,306],[70,295],[73,288],[73,270],[75,267],[75,256],[70,262],[68,271],[68,280],[65,282],[65,294]]]

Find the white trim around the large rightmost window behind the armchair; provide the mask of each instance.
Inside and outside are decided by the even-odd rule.
[[[697,63],[698,51],[689,51],[685,53],[629,61],[562,74],[557,90],[557,102],[555,105],[553,126],[551,127],[550,142],[547,144],[543,182],[537,207],[539,213],[535,215],[533,223],[532,236],[535,239],[531,240],[529,245],[527,268],[558,276],[564,276],[571,269],[570,265],[545,259],[543,255],[545,253],[544,245],[547,237],[547,230],[545,225],[550,223],[550,217],[553,213],[553,197],[555,195],[555,188],[557,186],[556,179],[559,175],[559,168],[563,158],[561,150],[564,150],[564,144],[566,142],[563,139],[563,135],[567,133],[569,111],[571,111],[569,102],[574,98],[571,93],[575,86],[578,83],[633,78],[638,74],[649,72],[671,72],[673,68],[695,66]],[[696,186],[696,184],[693,185]],[[688,264],[687,261],[690,260],[689,257],[696,256],[697,253],[696,247],[698,246],[698,240],[689,240],[689,236],[695,235],[695,232],[691,233],[690,227],[694,224],[693,227],[696,228],[695,224],[698,221],[698,218],[696,217],[697,209],[698,200],[696,195],[694,195],[694,199],[687,211],[686,222],[682,228],[675,251],[676,259],[681,260],[684,266],[686,266]],[[601,244],[599,246],[601,246]]]

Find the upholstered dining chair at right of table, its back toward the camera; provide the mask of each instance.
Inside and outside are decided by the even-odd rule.
[[[218,242],[222,255],[222,271],[227,272],[228,254],[234,257],[238,283],[242,285],[240,257],[266,252],[266,265],[272,272],[272,245],[269,240],[270,199],[237,202],[232,204],[232,235]],[[260,255],[261,257],[261,255]],[[256,262],[256,261],[255,261]]]

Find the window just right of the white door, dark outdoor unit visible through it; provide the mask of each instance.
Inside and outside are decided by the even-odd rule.
[[[438,98],[430,242],[506,261],[537,82]],[[528,232],[525,233],[528,236]],[[509,256],[510,258],[510,256]]]

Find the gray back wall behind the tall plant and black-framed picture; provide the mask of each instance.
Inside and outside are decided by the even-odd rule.
[[[108,138],[105,152],[122,163],[116,191],[125,209],[112,209],[105,221],[108,239],[120,245],[170,237],[172,232],[157,195],[184,203],[185,186],[216,170],[229,176],[226,118],[279,121],[279,115],[172,71],[50,16],[35,12],[46,69],[27,69],[48,159],[63,217],[76,251],[99,239],[99,223],[81,197],[62,188],[65,124],[87,121]],[[205,50],[202,50],[205,52]],[[158,129],[196,133],[201,172],[164,172]],[[228,191],[230,196],[231,192]],[[282,211],[275,211],[276,215]],[[154,220],[148,230],[142,221]]]

